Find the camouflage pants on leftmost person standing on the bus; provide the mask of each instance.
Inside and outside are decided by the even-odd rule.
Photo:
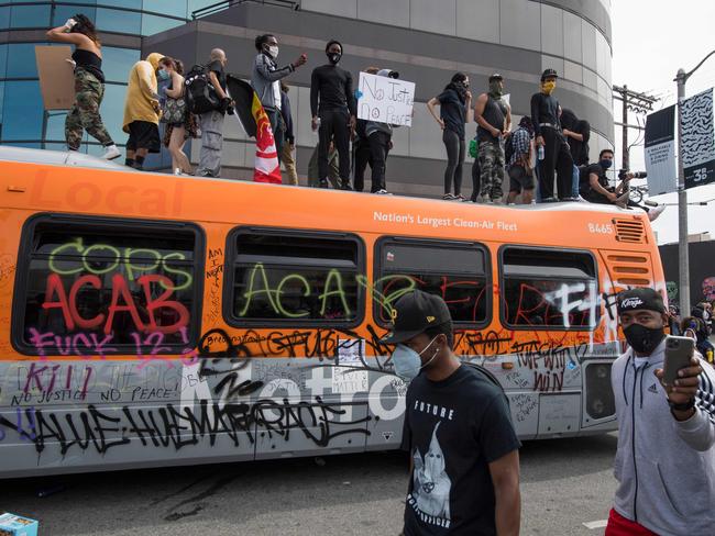
[[[82,129],[102,145],[114,143],[99,115],[102,97],[105,85],[85,69],[75,69],[75,104],[65,121],[65,139],[70,149],[79,148]]]

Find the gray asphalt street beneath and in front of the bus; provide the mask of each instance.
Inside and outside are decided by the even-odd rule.
[[[526,443],[521,534],[603,534],[583,523],[607,517],[616,440]],[[42,536],[397,535],[406,483],[406,455],[374,453],[0,481],[0,513]]]

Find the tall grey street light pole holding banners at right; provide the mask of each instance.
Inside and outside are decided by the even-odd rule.
[[[688,76],[678,69],[678,295],[681,316],[690,316],[690,258],[688,252],[688,191],[685,190],[685,164],[683,163],[683,100]]]

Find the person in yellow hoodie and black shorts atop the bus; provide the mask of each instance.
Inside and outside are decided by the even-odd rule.
[[[144,169],[148,153],[161,150],[156,71],[163,57],[154,52],[145,60],[136,62],[129,72],[122,130],[129,134],[125,164],[135,169]]]

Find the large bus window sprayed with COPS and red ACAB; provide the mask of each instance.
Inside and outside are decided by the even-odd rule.
[[[175,354],[199,330],[199,233],[40,216],[25,225],[13,334],[38,355]],[[200,287],[200,284],[199,284]]]

